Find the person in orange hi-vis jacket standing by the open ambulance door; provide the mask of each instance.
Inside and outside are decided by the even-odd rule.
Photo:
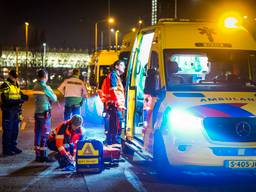
[[[125,72],[125,61],[118,60],[114,64],[113,71],[107,76],[109,85],[108,113],[109,129],[106,142],[108,145],[121,144],[121,131],[124,126],[123,111],[125,110],[125,96],[122,79],[120,76]]]

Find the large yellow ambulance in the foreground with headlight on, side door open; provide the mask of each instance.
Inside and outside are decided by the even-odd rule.
[[[135,38],[124,152],[167,168],[256,168],[256,42],[234,19],[161,19]]]

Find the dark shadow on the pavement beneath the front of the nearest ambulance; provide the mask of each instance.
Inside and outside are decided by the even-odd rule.
[[[160,175],[154,169],[152,161],[124,156],[132,165],[130,170],[139,180],[150,183],[175,184],[199,187],[231,187],[240,191],[256,191],[255,172],[245,171],[207,171],[200,169],[172,169],[168,173]],[[238,187],[238,188],[237,188]]]

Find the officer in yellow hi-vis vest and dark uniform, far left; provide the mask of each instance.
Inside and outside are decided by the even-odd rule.
[[[3,127],[3,155],[21,153],[17,148],[21,107],[28,96],[20,91],[18,75],[15,70],[9,72],[9,77],[0,86],[2,127]]]

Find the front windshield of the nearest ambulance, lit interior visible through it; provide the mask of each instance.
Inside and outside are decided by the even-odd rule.
[[[164,56],[168,89],[255,89],[254,51],[164,50]]]

